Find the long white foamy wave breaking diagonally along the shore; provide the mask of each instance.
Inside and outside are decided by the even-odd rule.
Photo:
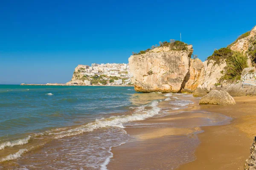
[[[124,123],[144,120],[159,114],[160,108],[158,108],[157,105],[160,101],[162,100],[153,100],[147,105],[142,105],[134,108],[134,112],[128,115],[111,116],[109,118],[96,119],[94,122],[90,122],[85,125],[78,125],[76,127],[56,128],[44,131],[42,133],[34,133],[23,139],[3,142],[2,144],[0,144],[0,150],[3,150],[3,152],[5,152],[4,149],[6,147],[13,147],[16,145],[19,145],[19,147],[17,148],[19,150],[16,153],[10,153],[5,157],[0,158],[0,162],[17,159],[21,157],[24,153],[29,152],[30,150],[34,150],[37,147],[41,147],[52,139],[61,139],[66,136],[75,136],[84,132],[91,132],[93,130],[105,127],[124,128]],[[38,143],[38,139],[40,139],[40,143]],[[106,159],[104,164],[107,165],[108,161],[109,160]],[[106,167],[104,164],[102,165],[102,170]]]

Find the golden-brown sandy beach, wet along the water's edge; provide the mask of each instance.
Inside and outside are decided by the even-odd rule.
[[[256,135],[256,97],[234,99],[232,106],[200,106],[195,99],[194,105],[179,110],[186,113],[140,121],[155,127],[128,126],[125,130],[133,139],[112,148],[108,169],[242,170]],[[218,113],[233,120],[228,125],[204,126],[209,123],[207,116],[215,119]]]

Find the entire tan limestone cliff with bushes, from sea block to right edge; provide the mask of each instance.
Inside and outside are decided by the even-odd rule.
[[[205,62],[191,58],[192,45],[184,43],[186,48],[177,49],[171,48],[172,43],[175,42],[166,42],[129,58],[136,91],[177,93],[182,89],[193,91],[198,85],[209,91],[222,83],[227,85],[240,81],[240,74],[230,73],[234,56],[247,57],[247,67],[256,66],[256,26],[227,48],[215,50]]]

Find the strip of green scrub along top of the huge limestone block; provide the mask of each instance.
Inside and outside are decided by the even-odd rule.
[[[178,41],[178,40],[170,40],[170,42],[164,41],[164,42],[159,42],[159,45],[152,45],[151,48],[146,49],[145,51],[140,51],[139,53],[137,52],[132,52],[132,55],[140,55],[140,54],[145,54],[146,52],[153,50],[154,48],[159,48],[159,47],[169,47],[170,51],[182,51],[182,50],[187,50],[187,45],[185,42]]]

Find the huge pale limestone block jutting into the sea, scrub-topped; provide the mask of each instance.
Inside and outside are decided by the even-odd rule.
[[[187,48],[183,51],[170,51],[169,48],[160,47],[146,54],[131,56],[129,66],[134,75],[134,89],[141,92],[179,92],[189,72],[193,52],[192,45]]]

